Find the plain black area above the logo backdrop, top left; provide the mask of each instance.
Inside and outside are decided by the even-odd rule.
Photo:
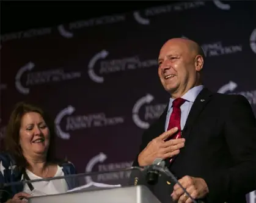
[[[1,34],[178,1],[1,1]]]

